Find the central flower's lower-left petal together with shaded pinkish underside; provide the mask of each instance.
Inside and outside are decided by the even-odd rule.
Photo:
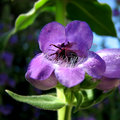
[[[51,76],[53,71],[52,63],[43,54],[38,54],[29,64],[25,77],[35,87],[49,89],[57,84],[57,80]]]

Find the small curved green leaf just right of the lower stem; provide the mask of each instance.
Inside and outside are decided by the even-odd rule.
[[[80,106],[81,106],[81,104],[83,102],[83,95],[82,95],[82,93],[80,91],[75,92],[74,95],[75,95],[75,98],[77,100],[77,104],[76,104],[76,107],[74,109],[74,113],[75,113],[80,109]]]

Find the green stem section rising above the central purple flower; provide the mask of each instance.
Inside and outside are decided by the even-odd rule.
[[[56,0],[56,21],[65,25],[66,0]]]

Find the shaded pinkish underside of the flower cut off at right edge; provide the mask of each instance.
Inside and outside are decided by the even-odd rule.
[[[120,79],[115,78],[101,78],[99,85],[96,87],[97,89],[109,91],[113,88],[116,88],[120,85]]]

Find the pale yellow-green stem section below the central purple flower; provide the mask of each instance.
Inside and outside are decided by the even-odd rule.
[[[57,88],[57,96],[58,98],[64,100],[65,94],[62,88]],[[58,120],[71,120],[71,112],[72,112],[72,105],[66,105],[63,108],[58,110]]]

